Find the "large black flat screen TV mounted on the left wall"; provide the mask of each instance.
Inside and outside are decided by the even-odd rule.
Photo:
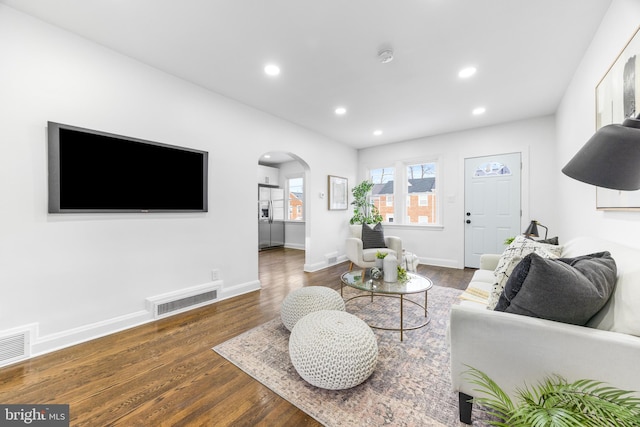
[[[207,212],[208,153],[48,122],[49,213]]]

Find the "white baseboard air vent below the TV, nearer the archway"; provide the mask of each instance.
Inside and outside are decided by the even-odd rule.
[[[154,318],[159,319],[216,302],[219,291],[219,285],[191,288],[147,298],[147,305]]]

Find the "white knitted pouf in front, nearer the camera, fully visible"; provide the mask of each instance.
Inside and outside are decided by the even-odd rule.
[[[298,374],[316,387],[355,387],[373,373],[378,342],[363,320],[345,311],[321,310],[296,323],[289,357]]]

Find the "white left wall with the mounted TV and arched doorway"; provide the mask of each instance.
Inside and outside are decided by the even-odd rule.
[[[0,333],[36,323],[34,352],[148,320],[146,297],[211,280],[256,289],[256,163],[292,152],[310,194],[357,153],[0,5]],[[209,152],[209,212],[47,214],[46,123]],[[326,156],[327,152],[332,156]],[[345,218],[310,197],[306,268],[326,265]]]

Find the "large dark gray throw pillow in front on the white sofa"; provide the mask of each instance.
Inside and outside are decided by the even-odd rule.
[[[585,325],[609,300],[616,274],[609,252],[557,259],[532,253],[513,269],[495,309]]]

